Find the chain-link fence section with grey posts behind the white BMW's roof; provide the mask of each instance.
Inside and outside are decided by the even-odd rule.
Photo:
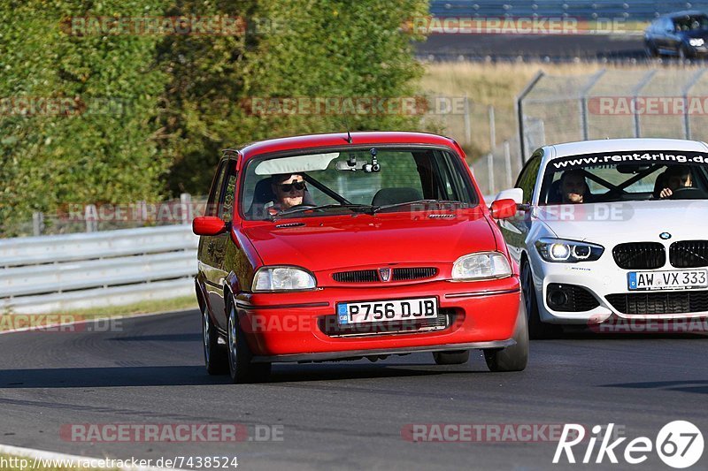
[[[622,137],[708,140],[708,69],[539,73],[519,96],[520,151]]]

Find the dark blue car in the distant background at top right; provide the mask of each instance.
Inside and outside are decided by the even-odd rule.
[[[701,11],[678,11],[659,17],[644,32],[644,49],[649,57],[706,57],[706,42],[708,15]]]

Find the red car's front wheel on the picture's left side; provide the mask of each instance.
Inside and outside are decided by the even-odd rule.
[[[228,305],[228,369],[235,384],[267,381],[271,373],[270,363],[253,363],[238,315],[233,302]]]

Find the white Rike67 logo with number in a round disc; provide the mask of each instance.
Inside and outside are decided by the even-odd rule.
[[[703,455],[703,434],[691,422],[667,423],[659,430],[653,442],[649,437],[636,437],[625,443],[627,437],[613,437],[613,429],[614,423],[606,427],[596,425],[592,428],[592,435],[587,440],[586,446],[585,428],[580,424],[566,423],[558,441],[556,454],[553,456],[553,464],[563,460],[567,460],[568,463],[575,463],[576,460],[584,464],[603,463],[605,459],[612,464],[617,464],[620,462],[619,457],[627,464],[638,465],[648,460],[650,453],[656,452],[667,466],[681,469],[695,465]],[[597,442],[599,445],[596,448]],[[573,450],[573,447],[576,449]],[[624,447],[623,452],[622,447]],[[575,452],[582,454],[576,458]]]

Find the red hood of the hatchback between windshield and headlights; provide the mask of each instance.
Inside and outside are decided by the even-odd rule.
[[[298,223],[305,225],[276,228]],[[450,219],[410,213],[281,219],[246,227],[243,233],[266,265],[312,271],[393,262],[451,263],[464,254],[496,250],[480,211],[458,212]]]

